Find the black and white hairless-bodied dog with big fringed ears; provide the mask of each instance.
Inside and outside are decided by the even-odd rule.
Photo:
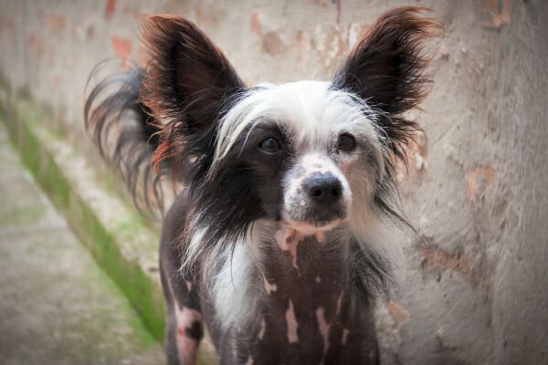
[[[161,177],[182,186],[160,242],[169,364],[195,363],[204,324],[220,364],[379,363],[383,237],[412,227],[396,169],[420,127],[405,113],[440,28],[427,11],[380,16],[330,81],[256,87],[190,21],[148,16],[146,67],[92,89],[87,128],[132,193],[145,186],[138,201],[159,204]]]

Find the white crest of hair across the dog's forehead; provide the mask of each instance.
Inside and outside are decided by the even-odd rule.
[[[311,149],[328,141],[330,133],[345,128],[366,136],[380,151],[384,137],[373,122],[374,110],[352,93],[330,86],[327,81],[261,84],[240,95],[220,120],[212,170],[245,130],[265,122],[286,128],[298,145],[306,143]]]

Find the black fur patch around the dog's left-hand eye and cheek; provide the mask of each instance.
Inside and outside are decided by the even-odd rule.
[[[259,149],[270,137],[282,146],[275,154]],[[200,207],[201,220],[194,224],[206,231],[204,253],[214,245],[234,245],[258,219],[280,219],[281,179],[292,162],[289,141],[275,123],[265,123],[250,133],[245,130],[215,172],[207,175],[196,167],[189,191],[193,204]]]

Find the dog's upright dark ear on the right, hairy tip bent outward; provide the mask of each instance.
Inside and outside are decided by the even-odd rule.
[[[351,91],[380,111],[377,121],[386,142],[402,158],[401,144],[412,138],[418,126],[401,114],[427,96],[430,80],[425,73],[428,58],[423,44],[441,28],[421,16],[428,10],[405,6],[380,16],[333,79],[334,88]]]

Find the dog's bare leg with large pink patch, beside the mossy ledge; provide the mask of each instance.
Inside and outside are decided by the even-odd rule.
[[[162,239],[160,270],[167,309],[165,354],[168,365],[195,364],[204,330],[196,287],[178,272],[178,255],[173,242]]]

